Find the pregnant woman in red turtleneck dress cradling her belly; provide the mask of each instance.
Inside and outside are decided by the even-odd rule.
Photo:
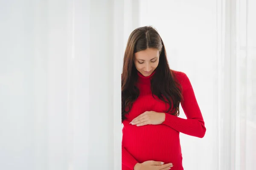
[[[182,106],[187,119],[178,117]],[[204,119],[185,73],[169,68],[158,32],[135,29],[122,71],[122,170],[183,170],[179,134],[203,138]]]

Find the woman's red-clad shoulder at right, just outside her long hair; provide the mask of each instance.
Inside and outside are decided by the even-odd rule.
[[[189,77],[186,75],[186,73],[182,71],[175,71],[175,70],[171,70],[171,72],[174,78],[177,80],[177,82],[180,83],[183,90],[191,87],[191,82],[189,80]]]

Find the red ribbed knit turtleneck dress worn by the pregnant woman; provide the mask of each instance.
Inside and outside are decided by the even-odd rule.
[[[154,99],[151,94],[149,77],[144,77],[138,72],[139,78],[137,87],[140,95],[134,102],[131,111],[126,114],[122,129],[122,170],[133,170],[135,164],[144,161],[163,161],[172,163],[171,170],[183,170],[182,153],[179,134],[204,137],[206,128],[200,108],[189,78],[185,73],[173,71],[177,81],[183,88],[183,101],[181,106],[187,119],[165,113],[166,119],[160,125],[144,125],[137,127],[129,124],[134,118],[145,111],[156,111],[163,113],[169,108],[159,99]]]

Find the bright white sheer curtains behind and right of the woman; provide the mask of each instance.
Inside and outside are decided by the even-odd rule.
[[[139,9],[140,26],[160,32],[204,116],[203,139],[180,134],[184,169],[255,169],[256,1],[140,0]]]

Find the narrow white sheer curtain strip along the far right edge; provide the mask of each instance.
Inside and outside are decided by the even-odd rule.
[[[235,5],[235,2],[233,2]],[[237,0],[235,135],[232,136],[233,167],[253,170],[256,162],[256,1]]]

